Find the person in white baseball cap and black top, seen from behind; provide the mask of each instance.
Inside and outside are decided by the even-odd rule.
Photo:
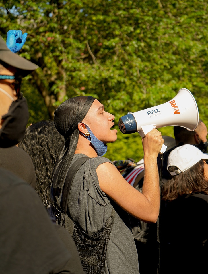
[[[162,186],[160,273],[207,273],[208,154],[186,144],[172,150]]]

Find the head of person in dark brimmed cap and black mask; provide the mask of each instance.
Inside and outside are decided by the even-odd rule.
[[[0,37],[0,147],[16,145],[24,136],[29,113],[20,92],[22,77],[37,65],[12,53]]]

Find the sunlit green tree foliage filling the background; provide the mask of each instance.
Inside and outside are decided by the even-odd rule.
[[[30,123],[67,98],[92,95],[119,117],[191,91],[207,124],[207,1],[3,1],[0,34],[27,32],[20,55],[39,65],[24,78]],[[207,124],[208,126],[208,124]],[[161,128],[174,137],[172,127]],[[111,160],[143,157],[138,133],[108,144]]]

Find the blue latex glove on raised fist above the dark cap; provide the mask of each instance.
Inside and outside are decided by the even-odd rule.
[[[27,33],[22,35],[22,31],[11,30],[7,32],[7,48],[16,53],[20,51],[27,39]]]

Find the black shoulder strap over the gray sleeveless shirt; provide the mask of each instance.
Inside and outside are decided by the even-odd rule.
[[[89,159],[89,157],[81,157],[77,159],[69,168],[67,172],[67,176],[65,179],[65,183],[63,186],[63,192],[62,192],[62,198],[60,206],[63,210],[63,212],[66,214],[67,212],[67,206],[68,206],[68,200],[69,200],[69,194],[71,190],[71,184],[73,182],[74,176],[79,170],[79,168]]]

